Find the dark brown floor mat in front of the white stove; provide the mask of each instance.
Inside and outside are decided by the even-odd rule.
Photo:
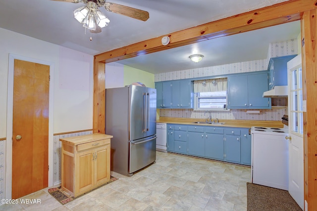
[[[288,191],[247,182],[248,211],[302,211]]]

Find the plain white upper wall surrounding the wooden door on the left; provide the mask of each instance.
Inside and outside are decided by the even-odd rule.
[[[93,56],[0,28],[0,138],[6,137],[9,53],[54,64],[53,133],[93,126]]]

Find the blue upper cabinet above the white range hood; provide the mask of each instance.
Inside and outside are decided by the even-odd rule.
[[[287,62],[296,55],[270,58],[268,63],[269,89],[275,85],[287,85]]]

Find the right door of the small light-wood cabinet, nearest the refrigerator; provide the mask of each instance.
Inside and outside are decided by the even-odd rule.
[[[110,171],[107,168],[110,166],[109,153],[109,144],[95,149],[95,186],[105,183],[110,179]]]

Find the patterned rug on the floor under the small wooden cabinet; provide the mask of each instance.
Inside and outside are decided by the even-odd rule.
[[[56,187],[56,188],[50,188],[48,191],[54,197],[54,199],[56,199],[60,204],[65,205],[68,202],[71,202],[75,199],[78,199],[79,197],[82,197],[82,196],[84,196],[84,195],[86,195],[94,190],[97,190],[98,188],[101,188],[101,187],[103,187],[103,186],[105,186],[105,185],[107,185],[107,184],[109,184],[117,179],[118,178],[116,178],[114,176],[110,176],[110,181],[108,181],[107,183],[105,183],[99,187],[96,187],[96,188],[94,188],[94,189],[92,189],[92,190],[90,190],[90,191],[88,191],[80,196],[77,196],[77,197],[70,196],[67,192],[65,192],[64,190],[61,189],[61,186]]]

